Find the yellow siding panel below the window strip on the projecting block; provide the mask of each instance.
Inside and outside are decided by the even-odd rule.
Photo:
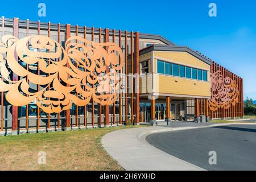
[[[156,93],[210,97],[210,82],[158,74],[154,80]]]

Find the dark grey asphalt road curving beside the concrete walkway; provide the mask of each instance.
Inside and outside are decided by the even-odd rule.
[[[256,170],[256,125],[229,125],[152,134],[147,142],[207,170]],[[209,164],[216,151],[217,164]],[[146,155],[146,154],[145,154]]]

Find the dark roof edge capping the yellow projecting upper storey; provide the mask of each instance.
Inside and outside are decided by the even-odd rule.
[[[209,65],[212,64],[212,61],[210,59],[207,59],[206,57],[200,55],[196,51],[193,51],[193,49],[187,47],[187,46],[170,46],[170,45],[160,45],[160,44],[154,44],[150,47],[146,47],[144,49],[141,49],[139,51],[139,55],[143,55],[145,53],[151,52],[151,51],[180,51],[180,52],[188,52],[191,55],[195,56],[197,59],[200,59],[204,63],[207,63]]]

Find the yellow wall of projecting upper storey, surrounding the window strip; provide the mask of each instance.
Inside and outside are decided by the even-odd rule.
[[[167,61],[208,71],[208,81],[192,80],[157,73],[157,61]],[[156,93],[210,97],[210,65],[187,52],[154,51],[154,88]],[[168,84],[167,84],[168,83]]]

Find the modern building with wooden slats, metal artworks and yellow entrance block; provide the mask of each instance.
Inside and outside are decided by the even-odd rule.
[[[192,121],[192,115],[195,115],[196,118],[205,116],[210,119],[243,117],[242,78],[203,54],[193,51],[186,46],[178,46],[162,36],[133,31],[109,30],[109,28],[90,28],[72,26],[70,24],[43,23],[40,21],[32,22],[30,20],[4,17],[0,18],[0,26],[0,39],[2,40],[0,46],[10,48],[8,49],[9,51],[19,48],[13,52],[13,59],[18,63],[17,67],[11,63],[13,61],[11,60],[11,53],[1,52],[0,117],[1,131],[3,132],[13,131],[16,134],[30,130],[108,127],[109,125],[119,125],[122,123],[138,125],[139,122],[148,122],[152,119],[158,121],[164,121],[165,119],[181,120],[184,116],[191,117]],[[18,39],[9,38],[6,40],[5,35],[13,35]],[[29,41],[32,43],[26,39],[36,35],[48,37],[49,42],[40,47],[45,39],[40,38],[42,40],[38,41],[30,39]],[[74,39],[71,40],[71,38]],[[70,100],[67,105],[63,104],[64,101],[61,101],[61,106],[55,104],[59,103],[58,101],[62,99],[62,96],[57,95],[57,90],[60,89],[55,88],[56,83],[54,81],[49,82],[47,85],[44,77],[52,78],[54,74],[57,74],[52,70],[47,72],[47,66],[53,67],[57,61],[65,57],[65,53],[63,53],[64,56],[61,55],[59,58],[54,57],[54,53],[59,51],[60,48],[60,46],[57,46],[57,43],[64,50],[69,45],[69,42],[75,45],[75,43],[85,42],[85,40],[90,42],[90,45],[92,45],[92,42],[99,43],[97,45],[103,45],[102,47],[107,52],[109,47],[113,45],[104,43],[113,42],[121,48],[122,52],[117,48],[114,50],[119,51],[120,61],[117,64],[120,66],[120,69],[116,68],[116,71],[127,76],[127,84],[122,85],[123,90],[127,92],[116,93],[113,96],[116,98],[113,104],[109,104],[110,102],[106,104],[101,100],[97,100],[96,94],[93,97],[88,96],[85,104],[86,97],[81,96],[81,92],[73,87],[72,92],[68,93]],[[8,43],[11,46],[7,45]],[[19,44],[23,44],[23,47],[19,46]],[[69,48],[76,47],[74,45]],[[53,46],[53,49],[51,49],[51,46]],[[68,52],[67,49],[65,51]],[[20,55],[20,52],[24,53]],[[36,53],[42,54],[36,56]],[[47,53],[52,53],[53,57],[47,56]],[[67,53],[69,61],[72,61],[61,66],[73,70],[77,67],[77,70],[86,72],[87,68],[80,69],[78,62],[74,61],[76,58],[73,58],[72,55],[70,56],[69,53],[72,54],[73,51]],[[90,53],[88,49],[88,52],[82,56],[86,57]],[[110,55],[112,52],[108,53]],[[31,64],[29,64],[27,57],[33,56],[33,59],[37,60],[34,62],[31,60]],[[40,57],[48,60],[45,63],[46,65],[39,61]],[[102,59],[102,57],[99,59]],[[56,62],[53,63],[53,61]],[[70,65],[71,63],[75,65],[74,68]],[[106,64],[106,61],[102,63]],[[97,64],[100,63],[96,61],[96,67]],[[19,71],[18,65],[27,71],[26,74]],[[6,69],[2,69],[2,67],[6,67]],[[106,68],[102,68],[100,72],[109,73],[109,68],[114,68],[114,66],[106,64]],[[69,80],[67,78],[69,81],[60,81],[65,77],[65,73],[61,75],[62,73],[60,72],[59,70],[59,75],[56,78],[59,78],[62,86],[66,86],[67,89],[71,88],[72,79]],[[69,74],[69,71],[67,72],[67,77],[75,79],[72,73]],[[6,74],[9,74],[8,78],[4,76]],[[38,77],[35,78],[38,81],[35,81],[30,74],[38,75],[42,80]],[[29,88],[22,86],[20,80],[27,82]],[[3,84],[15,85],[14,83],[18,84],[16,90],[19,93],[17,94],[14,94],[14,86],[10,86],[10,88],[7,88],[9,86],[3,86]],[[81,86],[83,84],[84,87]],[[86,81],[82,82],[81,85],[79,83],[82,89],[85,89],[85,84],[87,85]],[[92,85],[90,88],[93,88]],[[1,89],[1,86],[6,89]],[[61,88],[60,85],[59,87]],[[42,90],[51,90],[51,94],[55,95],[55,99],[48,104],[48,106],[51,105],[51,110],[47,110],[49,108],[45,106],[48,102],[47,99],[42,98]],[[65,89],[61,92],[64,93]],[[36,97],[38,93],[42,93],[42,95]],[[19,94],[21,94],[20,97]],[[72,94],[83,100],[72,99]],[[49,96],[44,97],[49,98]],[[30,98],[29,102],[28,98]],[[22,103],[25,103],[25,100],[26,104],[22,105]],[[42,100],[44,100],[43,104],[40,102]]]

